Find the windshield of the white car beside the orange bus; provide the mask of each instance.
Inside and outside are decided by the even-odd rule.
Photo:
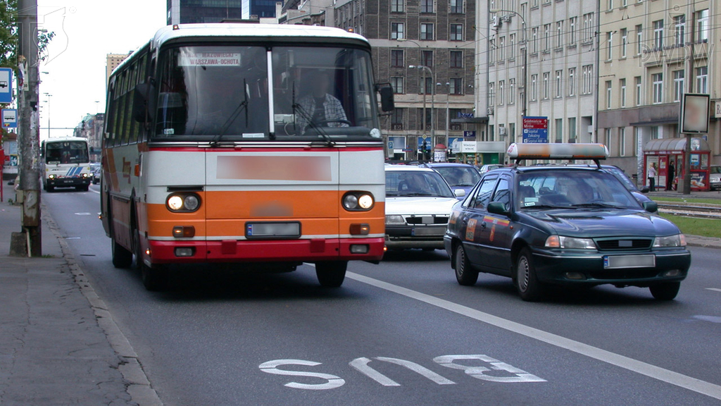
[[[441,175],[430,170],[386,170],[386,196],[455,197]]]

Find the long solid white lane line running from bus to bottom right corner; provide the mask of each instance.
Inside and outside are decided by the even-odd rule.
[[[585,355],[589,358],[600,360],[602,362],[609,363],[611,365],[618,366],[629,371],[640,373],[653,379],[658,379],[659,381],[667,382],[676,386],[681,386],[682,388],[689,389],[700,394],[705,394],[715,399],[721,399],[721,386],[712,384],[710,382],[702,381],[701,379],[696,379],[691,376],[686,376],[682,373],[669,371],[665,368],[653,366],[650,363],[645,363],[640,360],[634,360],[633,358],[629,358],[624,355],[611,353],[611,351],[601,350],[601,348],[583,344],[583,342],[570,340],[556,334],[544,332],[543,330],[534,329],[533,327],[528,327],[526,325],[516,323],[515,321],[510,321],[498,316],[493,316],[492,314],[487,314],[473,308],[461,306],[457,303],[446,301],[441,298],[436,298],[431,295],[426,295],[425,293],[416,292],[415,290],[402,288],[400,286],[393,285],[388,282],[383,282],[381,280],[376,280],[371,277],[358,275],[354,272],[348,272],[345,274],[345,276],[349,277],[350,279],[357,280],[358,282],[363,282],[368,285],[375,286],[376,288],[388,290],[389,292],[397,293],[399,295],[406,296],[407,298],[412,298],[417,301],[428,303],[430,305],[452,311],[456,314],[461,314],[462,316],[470,317],[471,319],[482,321],[492,326],[500,327],[501,329],[506,329],[510,332],[521,334],[534,340],[546,342],[547,344],[555,345],[556,347],[570,350],[574,353]]]

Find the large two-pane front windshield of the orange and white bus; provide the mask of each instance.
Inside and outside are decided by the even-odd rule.
[[[380,137],[371,56],[356,48],[182,46],[164,51],[155,137]],[[268,66],[268,64],[272,66]],[[269,80],[270,79],[270,80]],[[272,115],[272,117],[271,117]]]

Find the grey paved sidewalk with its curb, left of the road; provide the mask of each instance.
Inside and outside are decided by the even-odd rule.
[[[162,405],[50,216],[42,258],[8,255],[20,209],[2,187],[0,405]]]

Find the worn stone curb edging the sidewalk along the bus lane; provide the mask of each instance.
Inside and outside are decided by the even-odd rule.
[[[63,259],[66,260],[81,293],[90,303],[97,324],[102,331],[105,332],[110,347],[112,347],[121,360],[118,371],[120,371],[125,380],[125,392],[127,392],[131,396],[131,400],[139,406],[163,406],[163,402],[160,400],[160,397],[158,397],[155,389],[153,389],[145,371],[143,371],[143,365],[140,359],[138,359],[138,354],[133,350],[133,346],[128,341],[128,338],[125,337],[125,334],[120,331],[118,324],[115,324],[115,320],[112,319],[112,315],[110,311],[108,311],[105,302],[99,298],[92,288],[92,285],[90,285],[90,281],[85,277],[80,264],[72,254],[70,246],[68,246],[68,242],[59,233],[58,225],[55,223],[55,220],[53,220],[53,217],[48,215],[48,208],[45,207],[45,204],[42,204],[42,207],[43,220],[48,223],[53,236],[58,239],[61,251],[63,252]]]

